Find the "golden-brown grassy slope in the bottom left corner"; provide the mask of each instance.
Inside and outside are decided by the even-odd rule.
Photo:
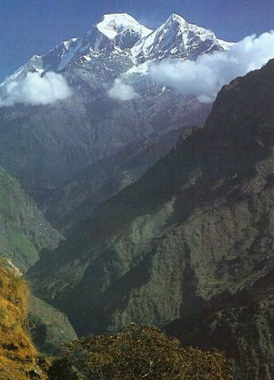
[[[26,332],[28,288],[23,279],[0,263],[0,379],[30,379],[39,355]]]

